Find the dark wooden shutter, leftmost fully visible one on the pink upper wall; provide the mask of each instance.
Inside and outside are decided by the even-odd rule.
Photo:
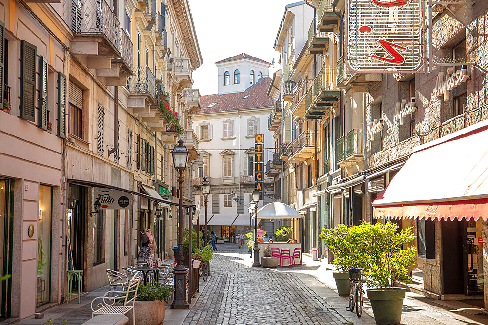
[[[35,121],[34,113],[36,94],[36,51],[31,43],[22,40],[20,60],[20,117]]]

